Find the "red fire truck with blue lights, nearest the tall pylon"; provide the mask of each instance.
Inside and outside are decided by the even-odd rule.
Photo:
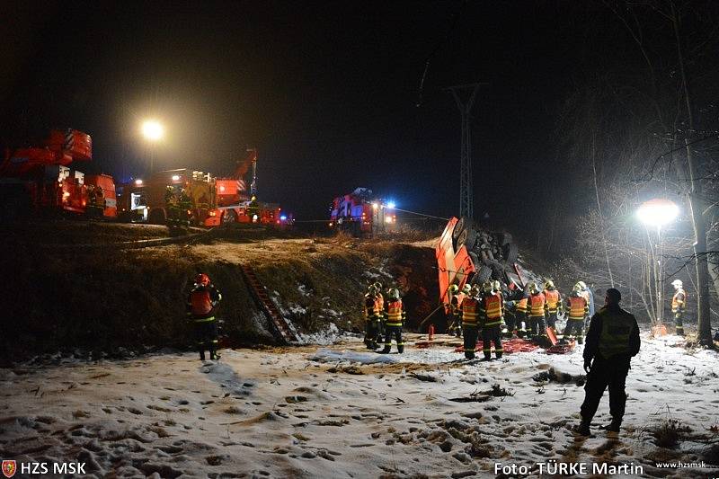
[[[392,232],[397,222],[394,204],[375,198],[367,188],[335,198],[330,210],[330,228],[354,236]]]

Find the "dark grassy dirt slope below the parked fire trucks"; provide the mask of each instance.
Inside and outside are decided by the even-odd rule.
[[[228,345],[274,338],[246,288],[249,262],[304,333],[362,327],[359,299],[369,281],[402,289],[409,327],[436,301],[429,247],[349,238],[299,238],[238,228],[198,244],[120,251],[116,244],[165,235],[163,228],[64,222],[0,235],[0,271],[12,271],[0,296],[5,340],[0,359],[57,350],[101,352],[185,348],[191,328],[184,301],[192,278],[207,272],[224,296],[219,319]],[[273,237],[281,235],[281,237]],[[56,248],[57,244],[65,244]],[[90,249],[73,244],[98,244]]]

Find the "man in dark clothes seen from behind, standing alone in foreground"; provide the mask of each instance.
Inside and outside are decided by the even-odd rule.
[[[590,423],[597,412],[601,396],[609,386],[609,412],[612,421],[607,430],[618,432],[626,405],[625,382],[630,360],[639,352],[639,326],[634,315],[619,307],[621,293],[607,290],[605,306],[591,317],[590,330],[584,346],[584,403],[577,432],[590,435]],[[593,362],[592,362],[593,359]]]

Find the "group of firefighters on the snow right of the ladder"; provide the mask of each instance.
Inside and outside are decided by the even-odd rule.
[[[527,288],[505,290],[498,280],[483,285],[466,284],[460,291],[457,285],[448,288],[448,333],[464,336],[466,359],[474,359],[477,340],[482,339],[485,360],[492,359],[492,349],[497,359],[502,358],[502,337],[528,338],[546,344],[547,333],[557,333],[557,319],[564,313],[566,325],[561,334],[561,343],[584,342],[585,331],[589,329],[590,318],[594,315],[594,297],[584,281],[578,281],[567,297],[562,297],[552,280],[547,279],[543,288],[536,282],[529,282]],[[684,334],[683,316],[687,294],[682,282],[672,282],[675,288],[671,299],[676,333]],[[365,344],[370,350],[377,350],[384,338],[382,353],[388,353],[392,337],[397,350],[404,351],[402,326],[406,313],[397,288],[386,291],[387,300],[380,283],[370,284],[363,298],[366,320]]]

